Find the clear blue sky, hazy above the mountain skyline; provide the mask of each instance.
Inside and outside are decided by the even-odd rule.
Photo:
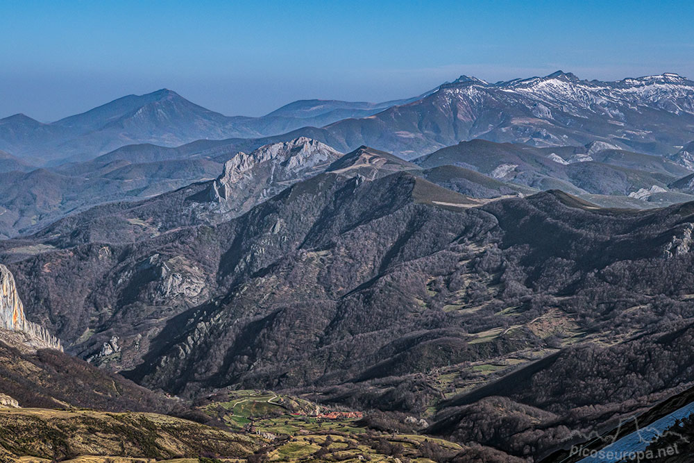
[[[163,87],[226,115],[487,81],[677,72],[691,1],[0,0],[0,117],[52,121]]]

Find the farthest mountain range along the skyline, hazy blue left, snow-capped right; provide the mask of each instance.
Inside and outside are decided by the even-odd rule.
[[[284,134],[285,140],[303,135],[343,152],[372,146],[406,159],[473,138],[533,146],[599,140],[669,155],[694,140],[693,92],[694,83],[677,74],[613,82],[582,81],[561,71],[498,83],[461,76],[410,99],[297,101],[251,118],[226,117],[159,90],[51,124],[25,115],[0,119],[0,149],[29,164],[56,165],[128,144],[172,147]]]

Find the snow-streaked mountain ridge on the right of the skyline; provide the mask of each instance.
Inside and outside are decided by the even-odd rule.
[[[692,139],[692,121],[694,83],[687,78],[600,82],[559,71],[499,83],[462,76],[407,105],[291,136],[310,135],[341,151],[372,146],[406,160],[475,138],[537,147],[599,141],[668,155]]]

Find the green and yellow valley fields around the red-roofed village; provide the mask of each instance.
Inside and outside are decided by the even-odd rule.
[[[322,418],[328,410],[295,396],[245,390],[209,399],[201,405],[205,413],[271,441],[263,456],[270,462],[431,462],[463,450],[443,439],[375,429],[378,426],[373,426],[368,415],[365,419]]]

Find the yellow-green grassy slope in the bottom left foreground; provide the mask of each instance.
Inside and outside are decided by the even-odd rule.
[[[6,456],[65,460],[83,455],[167,460],[246,457],[260,439],[151,413],[10,409],[0,413]],[[1,455],[1,454],[0,454]]]

